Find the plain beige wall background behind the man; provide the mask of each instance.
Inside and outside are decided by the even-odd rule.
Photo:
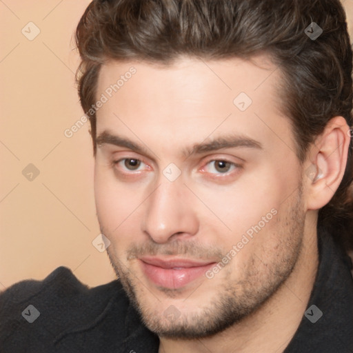
[[[0,291],[60,265],[90,286],[114,279],[108,256],[92,245],[99,227],[89,126],[63,134],[83,115],[73,33],[88,3],[0,0]],[[353,0],[343,3],[353,19]],[[40,30],[32,41],[21,32],[35,34],[30,22]],[[40,172],[32,181],[22,174],[30,163]]]

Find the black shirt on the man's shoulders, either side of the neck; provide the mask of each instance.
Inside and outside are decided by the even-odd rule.
[[[314,288],[284,352],[353,353],[352,261],[329,235],[318,240]],[[1,353],[158,349],[158,337],[143,326],[118,280],[88,288],[60,267],[43,281],[21,281],[0,295]]]

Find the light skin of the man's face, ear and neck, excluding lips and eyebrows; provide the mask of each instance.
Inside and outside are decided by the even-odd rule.
[[[317,210],[341,181],[348,128],[332,119],[301,165],[279,110],[280,70],[266,57],[256,61],[112,61],[99,76],[97,97],[137,70],[97,112],[94,189],[112,266],[159,334],[160,352],[283,352],[306,309],[318,265]],[[240,92],[252,99],[245,111],[233,103]],[[183,153],[231,136],[256,146]],[[309,167],[321,179],[308,177]],[[170,181],[163,171],[181,174]],[[165,288],[143,272],[145,255],[223,266]]]

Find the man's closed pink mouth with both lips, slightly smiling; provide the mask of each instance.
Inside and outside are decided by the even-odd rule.
[[[170,256],[169,256],[170,257]],[[203,276],[215,261],[143,256],[139,258],[143,273],[154,285],[169,289],[183,288]]]

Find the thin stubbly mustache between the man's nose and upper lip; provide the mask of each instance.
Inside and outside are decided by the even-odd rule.
[[[159,244],[150,240],[141,244],[132,244],[127,250],[128,260],[134,260],[145,255],[184,255],[192,259],[219,259],[219,261],[224,257],[223,252],[218,248],[206,247],[194,241],[177,240],[167,244]]]

